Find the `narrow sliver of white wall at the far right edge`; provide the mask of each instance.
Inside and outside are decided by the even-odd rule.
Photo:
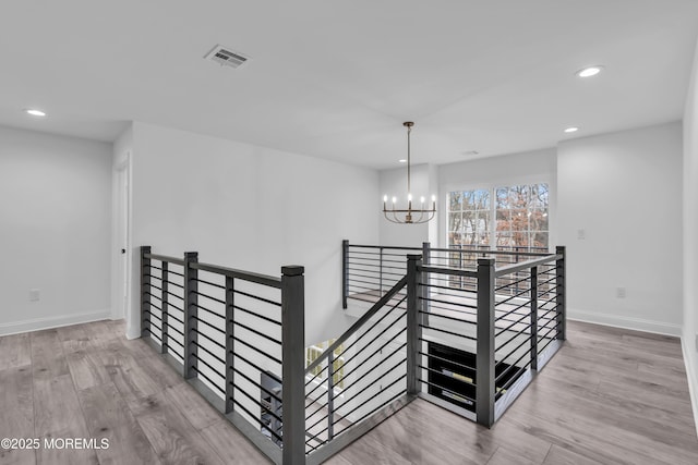
[[[698,414],[698,46],[684,113],[684,328],[686,371]],[[698,415],[696,415],[698,427]]]

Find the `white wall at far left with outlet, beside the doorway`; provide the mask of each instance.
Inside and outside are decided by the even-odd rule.
[[[109,316],[109,144],[0,127],[0,334]]]

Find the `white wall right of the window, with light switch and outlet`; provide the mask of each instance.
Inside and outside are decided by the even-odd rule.
[[[568,316],[678,335],[681,124],[561,143],[557,186]],[[625,298],[617,287],[626,289]]]

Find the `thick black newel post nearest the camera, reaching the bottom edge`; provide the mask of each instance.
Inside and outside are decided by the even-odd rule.
[[[284,464],[305,463],[304,269],[281,267],[281,401]]]

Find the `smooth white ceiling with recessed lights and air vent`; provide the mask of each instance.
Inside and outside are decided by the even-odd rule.
[[[445,163],[679,120],[697,33],[696,0],[3,0],[0,124],[112,140],[136,120],[389,168],[413,120],[414,162]],[[205,61],[216,44],[252,60]]]

